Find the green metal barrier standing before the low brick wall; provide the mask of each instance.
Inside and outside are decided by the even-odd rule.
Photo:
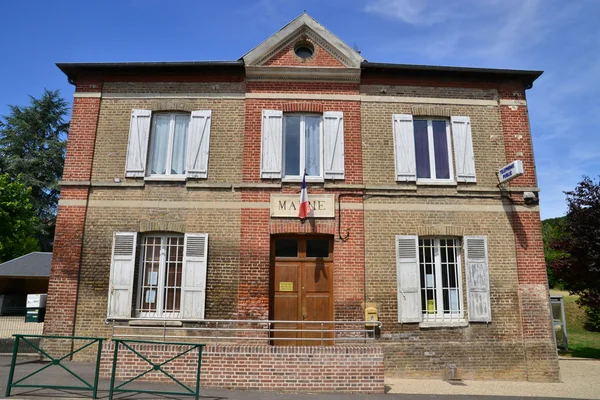
[[[194,398],[196,400],[198,400],[198,398],[200,397],[200,368],[202,365],[202,349],[204,348],[204,346],[206,346],[205,344],[177,343],[177,342],[155,342],[155,341],[149,341],[149,340],[124,340],[124,339],[113,339],[113,342],[115,344],[115,350],[114,350],[114,356],[113,356],[112,372],[111,372],[111,376],[110,376],[110,389],[108,392],[109,400],[112,400],[113,394],[117,393],[117,392],[119,392],[119,393],[147,393],[147,394],[162,394],[162,395],[177,395],[177,396],[194,396]],[[115,387],[115,375],[117,372],[117,360],[119,359],[119,345],[120,344],[122,344],[126,349],[133,352],[138,358],[141,358],[142,360],[147,362],[150,365],[150,368],[147,369],[146,371],[142,372],[141,374],[138,374],[137,376],[121,383],[119,386]],[[163,361],[161,363],[154,363],[148,357],[145,357],[139,351],[137,351],[132,346],[130,346],[130,344],[173,345],[173,346],[186,346],[189,348],[185,351],[178,353],[174,357],[169,358],[166,361]],[[183,356],[184,354],[187,354],[195,349],[198,349],[198,364],[197,364],[197,370],[196,370],[196,389],[194,390],[191,387],[188,387],[188,386],[184,385],[183,383],[181,383],[173,375],[171,375],[167,371],[165,371],[163,369],[163,367],[166,364],[170,363],[171,361],[176,360],[177,358],[179,358],[179,357]],[[175,382],[179,386],[181,386],[184,389],[184,391],[182,391],[182,392],[166,392],[166,391],[159,391],[159,390],[146,390],[146,389],[140,390],[140,389],[125,389],[125,388],[123,388],[123,386],[125,386],[137,379],[140,379],[144,375],[146,375],[150,372],[153,372],[153,371],[161,372],[162,374],[166,375],[173,382]]]

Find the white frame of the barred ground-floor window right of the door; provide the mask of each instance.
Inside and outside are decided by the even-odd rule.
[[[441,308],[436,307],[436,312],[435,313],[429,313],[427,312],[427,306],[426,304],[423,305],[422,303],[422,297],[421,295],[419,296],[421,298],[421,310],[422,310],[422,323],[424,324],[428,324],[428,323],[441,323],[441,324],[451,324],[451,323],[457,323],[457,322],[465,322],[465,305],[464,305],[464,291],[463,291],[463,265],[462,265],[462,252],[463,252],[463,241],[461,240],[461,238],[458,237],[445,237],[445,236],[419,236],[417,239],[417,246],[418,246],[418,252],[419,252],[419,282],[420,282],[420,277],[422,276],[423,272],[422,272],[422,266],[421,263],[424,262],[424,260],[421,259],[421,241],[422,240],[432,240],[433,241],[433,249],[434,249],[434,253],[433,253],[433,265],[435,268],[435,301],[436,301],[436,305],[437,304],[442,304]],[[458,251],[456,251],[456,261],[455,261],[455,265],[457,268],[457,272],[456,272],[456,282],[457,282],[457,289],[458,289],[458,307],[459,310],[457,313],[453,313],[453,312],[449,312],[449,313],[445,313],[444,312],[444,308],[443,308],[443,304],[444,304],[444,287],[443,287],[443,282],[442,282],[442,262],[441,262],[441,246],[440,246],[440,240],[453,240],[454,241],[454,248],[458,247]],[[426,274],[425,274],[426,276]],[[425,281],[427,280],[427,278],[425,278]],[[425,284],[427,285],[427,284]],[[427,290],[427,288],[423,288],[421,284],[419,284],[419,291],[422,293],[423,290]],[[427,301],[427,296],[425,297],[425,300]],[[448,299],[448,302],[450,303],[450,298]]]

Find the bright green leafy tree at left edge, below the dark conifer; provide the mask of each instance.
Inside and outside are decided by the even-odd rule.
[[[31,189],[0,175],[0,262],[39,250],[35,238],[38,218],[31,204]]]

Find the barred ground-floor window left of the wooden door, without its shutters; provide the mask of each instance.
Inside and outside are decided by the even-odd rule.
[[[142,238],[138,317],[179,317],[183,247],[183,235],[151,235]]]

